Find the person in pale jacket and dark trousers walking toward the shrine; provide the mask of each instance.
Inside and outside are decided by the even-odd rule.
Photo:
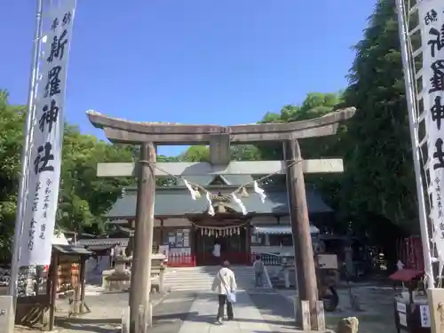
[[[234,272],[230,269],[230,263],[224,261],[222,268],[214,277],[211,290],[218,293],[218,315],[216,321],[222,323],[224,320],[224,306],[226,305],[226,315],[228,321],[234,320],[233,302],[230,296],[234,294],[237,289],[236,278]]]

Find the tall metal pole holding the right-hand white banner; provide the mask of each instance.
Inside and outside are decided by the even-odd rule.
[[[425,206],[423,178],[421,172],[421,156],[419,155],[419,139],[417,129],[419,123],[416,115],[416,99],[415,99],[415,87],[412,73],[412,59],[408,53],[408,28],[404,20],[404,8],[405,4],[403,0],[396,0],[397,12],[398,12],[398,26],[400,33],[400,54],[402,56],[402,66],[404,67],[404,83],[406,86],[406,99],[408,107],[408,123],[410,125],[410,138],[412,140],[412,152],[413,163],[415,166],[415,178],[416,178],[416,194],[418,199],[419,209],[419,226],[421,229],[421,242],[423,243],[424,252],[424,271],[427,278],[428,288],[434,288],[435,281],[433,277],[432,268],[432,253],[430,250],[429,242],[429,230],[427,226],[427,210]]]

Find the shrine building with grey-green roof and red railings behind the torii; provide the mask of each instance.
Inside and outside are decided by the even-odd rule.
[[[217,265],[221,258],[233,264],[247,264],[253,254],[293,252],[285,186],[261,185],[266,193],[265,202],[253,192],[252,185],[245,186],[244,195],[239,195],[248,211],[244,215],[232,201],[231,193],[243,184],[251,184],[251,176],[208,175],[187,177],[186,180],[210,192],[215,215],[210,216],[209,203],[202,191],[201,197],[193,200],[183,183],[157,186],[154,250],[166,250],[170,266]],[[311,232],[316,234],[319,233],[318,227],[330,220],[333,210],[310,186],[306,188],[306,197],[313,224]],[[120,229],[119,235],[79,242],[90,250],[106,250],[115,245],[126,247],[131,226],[134,226],[136,202],[137,189],[125,188],[122,197],[107,213],[109,223]],[[212,253],[215,244],[220,245],[220,257]]]

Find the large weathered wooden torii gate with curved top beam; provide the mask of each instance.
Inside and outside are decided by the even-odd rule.
[[[309,313],[298,305],[297,321],[303,329],[325,329],[324,313],[318,299],[312,239],[305,198],[304,172],[342,172],[342,159],[302,160],[297,139],[336,134],[341,121],[351,118],[355,108],[348,107],[329,115],[294,123],[261,123],[234,126],[186,125],[178,123],[137,123],[108,117],[94,111],[87,115],[111,142],[140,145],[139,163],[99,163],[98,177],[138,177],[135,244],[131,274],[131,333],[136,332],[139,308],[149,305],[151,255],[153,247],[155,176],[204,174],[287,175],[289,216],[295,249],[298,299],[308,301]],[[231,143],[283,143],[285,161],[231,162]],[[154,168],[155,147],[165,145],[210,145],[210,163],[158,163]],[[300,163],[295,163],[300,161]],[[306,302],[305,302],[306,303]],[[146,320],[151,322],[150,318]],[[140,325],[138,325],[140,327]],[[147,325],[145,325],[147,326]],[[143,327],[143,326],[142,326]]]

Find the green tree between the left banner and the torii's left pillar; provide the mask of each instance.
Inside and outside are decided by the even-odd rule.
[[[109,145],[65,126],[59,193],[59,226],[91,234],[104,231],[103,213],[132,185],[131,178],[97,178],[97,163],[129,162],[131,147]]]

